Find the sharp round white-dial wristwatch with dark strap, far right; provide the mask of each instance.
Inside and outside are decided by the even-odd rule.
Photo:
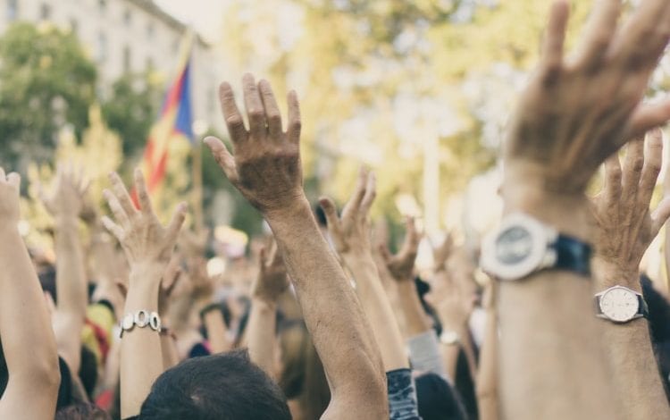
[[[649,308],[644,297],[624,286],[614,286],[597,293],[596,316],[613,323],[628,323],[633,319],[648,318]]]

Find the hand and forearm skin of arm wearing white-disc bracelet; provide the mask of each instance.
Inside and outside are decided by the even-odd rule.
[[[110,175],[112,191],[105,198],[114,220],[105,216],[107,230],[121,243],[130,265],[125,314],[138,310],[158,311],[158,296],[163,273],[170,263],[186,206],[178,206],[168,226],[155,216],[142,172],[135,171],[135,189],[140,209],[133,206],[119,175]],[[137,416],[151,385],[163,373],[161,339],[150,328],[133,328],[121,339],[121,417]]]

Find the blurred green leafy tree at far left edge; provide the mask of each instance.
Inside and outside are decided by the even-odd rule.
[[[2,164],[45,161],[66,124],[80,134],[95,100],[96,67],[77,38],[49,25],[18,23],[0,38]]]

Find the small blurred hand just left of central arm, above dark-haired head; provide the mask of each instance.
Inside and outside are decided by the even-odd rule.
[[[258,276],[251,288],[251,296],[274,304],[281,294],[289,288],[289,277],[284,260],[277,245],[261,248]]]

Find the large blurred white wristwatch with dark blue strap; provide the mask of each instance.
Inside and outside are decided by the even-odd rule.
[[[482,244],[482,269],[503,281],[540,270],[590,275],[590,245],[547,226],[528,214],[509,214]]]

